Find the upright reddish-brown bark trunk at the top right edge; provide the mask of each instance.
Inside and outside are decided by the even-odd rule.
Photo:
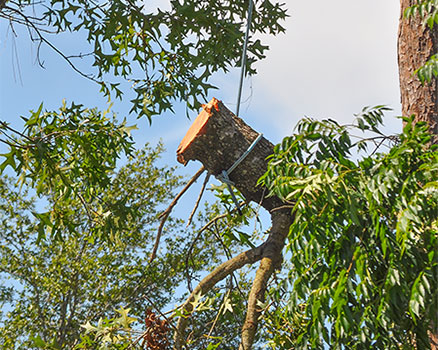
[[[438,27],[433,29],[422,24],[420,16],[404,18],[407,7],[415,0],[400,0],[400,24],[398,34],[398,64],[402,114],[415,115],[416,121],[429,124],[433,134],[438,134],[438,80],[421,84],[415,70],[423,66],[438,50]],[[435,143],[438,138],[435,137]]]

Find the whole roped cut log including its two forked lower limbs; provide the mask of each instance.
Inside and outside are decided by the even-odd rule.
[[[186,165],[190,160],[200,161],[208,172],[220,177],[223,170],[230,169],[259,136],[242,119],[235,116],[219,100],[213,98],[195,119],[177,150],[177,159]],[[257,331],[260,309],[258,301],[263,302],[267,282],[274,269],[280,267],[285,238],[292,222],[289,210],[281,209],[283,203],[277,197],[266,198],[266,191],[257,186],[257,180],[266,172],[266,158],[273,153],[273,144],[262,137],[248,155],[229,174],[233,185],[248,201],[260,203],[271,213],[272,227],[268,239],[260,246],[250,249],[218,266],[206,276],[193,290],[183,304],[174,335],[175,349],[185,348],[185,329],[193,312],[191,302],[195,296],[205,295],[216,283],[226,278],[246,264],[259,260],[260,267],[248,296],[248,309],[242,326],[242,339],[239,349],[250,350]]]

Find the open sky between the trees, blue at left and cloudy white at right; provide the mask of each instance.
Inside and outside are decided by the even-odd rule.
[[[167,6],[166,0],[151,6]],[[351,122],[364,106],[386,104],[386,130],[398,132],[401,122],[397,72],[398,0],[313,0],[285,1],[290,17],[286,34],[264,37],[271,50],[258,63],[258,75],[245,80],[241,117],[276,143],[292,132],[303,116],[333,118]],[[99,88],[74,72],[67,63],[43,47],[37,64],[37,46],[27,31],[15,27],[18,36],[0,20],[0,118],[16,124],[41,102],[48,109],[61,105],[63,98],[88,107],[106,107]],[[57,37],[55,44],[68,52],[81,52],[81,40]],[[235,110],[239,71],[218,74],[213,83],[217,97]],[[123,117],[129,102],[117,102],[113,110]],[[164,161],[175,165],[175,151],[192,121],[182,106],[175,115],[156,117],[152,126],[137,120],[140,130],[133,133],[138,146],[162,139],[167,153]],[[192,113],[192,120],[196,113]],[[184,171],[191,173],[199,164]],[[196,192],[196,191],[195,191]]]

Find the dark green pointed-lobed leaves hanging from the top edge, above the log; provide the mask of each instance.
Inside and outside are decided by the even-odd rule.
[[[26,25],[33,40],[49,45],[83,76],[101,85],[102,92],[123,95],[126,83],[134,96],[132,109],[149,121],[171,110],[176,100],[197,109],[214,88],[208,78],[238,65],[248,1],[172,0],[169,10],[148,8],[132,0],[95,3],[90,0],[11,0],[2,14],[11,23]],[[263,0],[256,4],[253,34],[284,31],[283,5]],[[67,55],[50,42],[49,33],[78,32],[89,54]],[[252,36],[254,37],[254,36]],[[268,49],[259,39],[248,44],[247,72]],[[71,57],[73,56],[73,57]],[[85,59],[92,73],[75,62]],[[109,79],[109,80],[108,80]]]

